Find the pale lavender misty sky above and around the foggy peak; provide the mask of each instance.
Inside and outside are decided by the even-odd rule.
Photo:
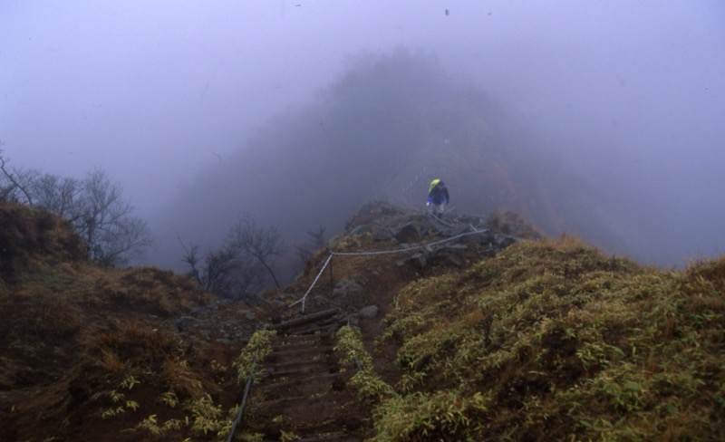
[[[2,149],[16,168],[101,167],[153,218],[350,57],[401,46],[437,54],[621,199],[644,258],[725,253],[719,0],[4,2]]]

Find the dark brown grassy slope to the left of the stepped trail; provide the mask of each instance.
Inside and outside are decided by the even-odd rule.
[[[214,440],[237,400],[189,278],[100,268],[63,220],[0,203],[0,440]],[[227,358],[228,359],[228,358]]]

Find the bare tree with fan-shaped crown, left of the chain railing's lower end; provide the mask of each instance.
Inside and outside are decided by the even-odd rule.
[[[229,242],[237,247],[241,254],[247,254],[261,264],[272,277],[277,288],[280,287],[275,276],[275,257],[282,255],[284,240],[277,226],[266,229],[257,227],[255,218],[250,213],[239,216],[237,223],[231,227]]]

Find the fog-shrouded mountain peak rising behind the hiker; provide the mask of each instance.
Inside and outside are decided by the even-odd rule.
[[[603,244],[622,245],[609,230],[607,208],[594,207],[603,198],[524,123],[488,93],[451,78],[433,56],[401,50],[362,57],[318,97],[269,120],[189,179],[169,202],[163,230],[217,245],[249,211],[298,245],[310,229],[341,231],[372,199],[422,209],[430,180],[442,178],[462,213],[507,207],[547,232],[598,233]],[[178,250],[166,263],[178,265],[178,238],[164,241]],[[298,271],[296,256],[289,258],[278,265],[285,281]]]

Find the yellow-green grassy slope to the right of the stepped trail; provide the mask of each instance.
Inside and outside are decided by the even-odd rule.
[[[725,440],[724,293],[725,258],[662,272],[571,237],[411,283],[376,440]]]

